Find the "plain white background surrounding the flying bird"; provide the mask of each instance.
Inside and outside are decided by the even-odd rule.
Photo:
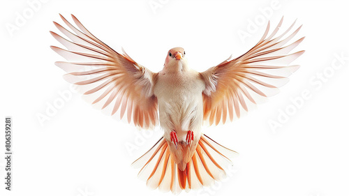
[[[223,183],[188,195],[349,195],[348,57],[340,68],[331,67],[341,65],[336,55],[349,56],[345,1],[279,1],[266,16],[261,10],[270,8],[269,0],[47,1],[35,8],[28,3],[33,1],[0,5],[0,116],[13,117],[13,191],[2,183],[1,158],[0,195],[164,195],[149,190],[130,166],[161,137],[160,128],[140,136],[144,130],[94,110],[70,91],[64,71],[54,66],[64,60],[49,47],[61,46],[49,33],[58,33],[52,21],[63,23],[59,13],[68,20],[73,13],[95,36],[116,50],[124,47],[152,71],[161,70],[166,52],[176,46],[186,49],[192,68],[206,70],[253,47],[267,20],[273,28],[285,16],[285,30],[297,19],[297,27],[303,24],[297,38],[306,36],[297,47],[306,53],[294,62],[301,68],[256,110],[203,128],[240,155]],[[152,9],[154,2],[161,7]],[[27,19],[17,25],[19,15]],[[240,38],[238,32],[248,33],[249,21],[255,20],[260,24],[249,31],[251,37]],[[8,30],[10,25],[17,29]],[[326,82],[318,79],[324,72]],[[302,91],[310,98],[295,109],[290,99]],[[40,123],[38,115],[48,115],[62,92],[72,96]],[[287,110],[287,121],[269,126]],[[2,153],[4,131],[0,135]]]

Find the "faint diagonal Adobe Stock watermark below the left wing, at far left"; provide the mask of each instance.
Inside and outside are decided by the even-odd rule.
[[[45,126],[45,122],[50,121],[54,116],[56,116],[58,111],[73,98],[73,94],[77,92],[75,87],[76,86],[73,84],[69,84],[69,89],[57,91],[58,97],[45,103],[45,111],[36,112],[36,119],[38,119],[40,126]]]

